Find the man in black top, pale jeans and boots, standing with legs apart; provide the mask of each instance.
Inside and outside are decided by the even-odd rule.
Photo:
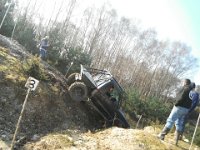
[[[179,94],[176,96],[176,103],[167,118],[166,124],[161,131],[161,133],[158,135],[158,138],[161,140],[164,140],[165,135],[169,133],[173,125],[176,126],[176,145],[178,144],[178,138],[181,134],[181,131],[183,130],[183,124],[184,124],[184,116],[186,116],[189,112],[189,109],[192,105],[192,100],[189,98],[189,93],[191,91],[190,87],[191,81],[190,79],[184,80],[184,85],[179,92]]]

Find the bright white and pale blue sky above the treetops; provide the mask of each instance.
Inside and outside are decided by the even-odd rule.
[[[45,2],[43,13],[51,15],[55,1],[38,1]],[[25,4],[28,0],[19,2]],[[200,0],[80,0],[79,7],[101,7],[107,2],[119,16],[139,19],[145,27],[154,28],[159,39],[180,41],[192,47],[200,66]],[[200,85],[200,68],[189,78]]]

